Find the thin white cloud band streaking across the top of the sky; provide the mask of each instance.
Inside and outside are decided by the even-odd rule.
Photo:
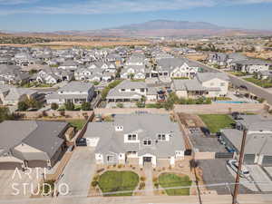
[[[31,4],[38,0],[0,0],[0,5]],[[74,3],[56,5],[30,5],[28,8],[1,9],[0,15],[12,14],[117,14],[161,10],[182,10],[215,5],[241,5],[272,3],[272,0],[75,0]]]

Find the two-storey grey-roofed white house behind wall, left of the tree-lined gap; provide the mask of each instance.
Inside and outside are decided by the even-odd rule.
[[[83,103],[91,102],[94,95],[92,83],[71,82],[61,89],[46,95],[46,102],[63,104],[65,102]]]

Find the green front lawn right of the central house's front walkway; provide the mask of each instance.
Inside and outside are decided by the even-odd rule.
[[[159,184],[162,188],[187,187],[191,185],[189,176],[180,177],[174,173],[162,173],[159,176]],[[165,189],[169,196],[189,196],[189,188]]]

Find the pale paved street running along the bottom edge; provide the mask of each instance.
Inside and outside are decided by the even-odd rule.
[[[201,196],[202,204],[230,204],[232,197],[228,195],[205,195]],[[271,204],[272,195],[239,195],[240,204]],[[20,199],[0,200],[2,204],[200,204],[197,196],[151,196],[151,197],[107,197],[107,198],[86,198],[86,197],[61,197],[57,199]]]

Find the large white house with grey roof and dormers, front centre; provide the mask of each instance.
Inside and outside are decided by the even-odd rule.
[[[84,137],[95,147],[97,165],[173,167],[184,159],[179,125],[168,114],[115,115],[112,122],[89,122]]]

